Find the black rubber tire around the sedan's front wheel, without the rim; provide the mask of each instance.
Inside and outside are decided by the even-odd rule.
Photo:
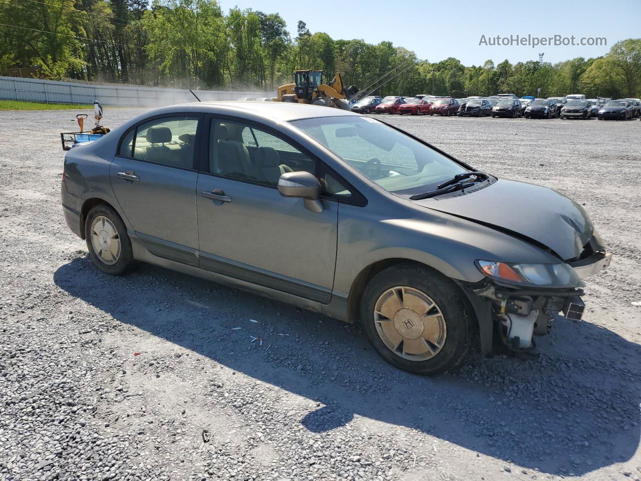
[[[388,348],[378,334],[374,321],[376,303],[386,291],[399,286],[423,292],[440,308],[445,324],[445,341],[440,351],[430,359],[405,359]],[[459,364],[469,350],[472,315],[468,306],[458,285],[449,278],[428,267],[399,264],[384,269],[367,284],[361,301],[360,318],[372,346],[392,366],[410,373],[437,375]]]

